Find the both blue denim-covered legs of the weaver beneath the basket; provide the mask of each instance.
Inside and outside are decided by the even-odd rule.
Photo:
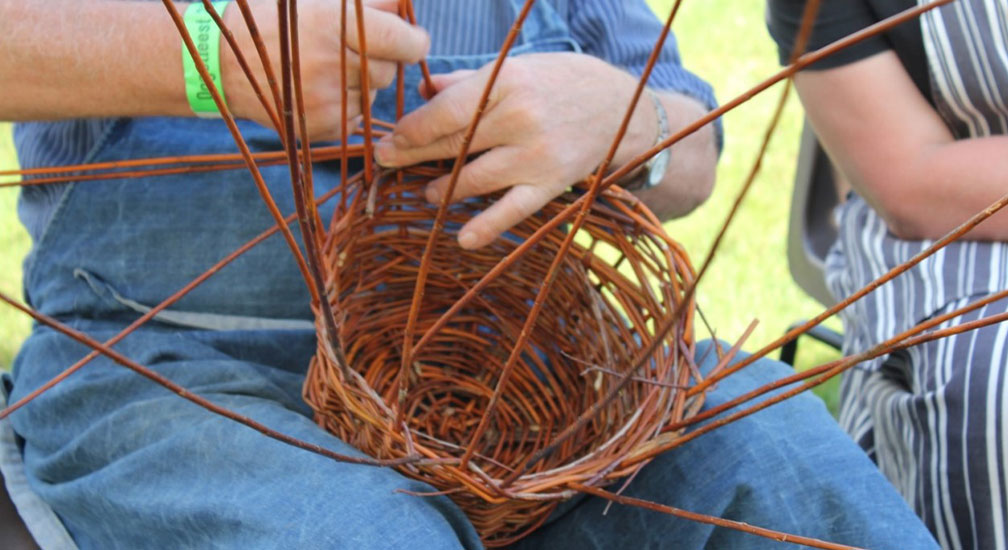
[[[79,321],[95,337],[118,327]],[[699,357],[713,357],[700,346]],[[283,433],[357,453],[299,397],[310,331],[144,328],[119,351]],[[87,350],[48,330],[17,359],[17,399]],[[712,361],[704,363],[710,368]],[[29,368],[30,366],[30,368]],[[708,407],[788,373],[760,361]],[[445,497],[392,469],[268,439],[98,359],[11,417],[31,488],[81,548],[479,548]],[[801,395],[658,456],[624,493],[866,548],[934,548],[922,524],[814,396]],[[773,548],[768,539],[576,499],[517,548]]]

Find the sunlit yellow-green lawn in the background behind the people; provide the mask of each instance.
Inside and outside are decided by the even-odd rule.
[[[671,3],[651,0],[661,17]],[[762,2],[683,2],[673,26],[683,61],[714,85],[722,102],[740,95],[777,68],[762,9]],[[699,266],[707,256],[755,159],[780,92],[777,86],[725,117],[725,149],[714,195],[692,215],[666,226],[669,234],[684,244],[695,265]],[[763,159],[760,176],[699,288],[700,305],[718,337],[734,340],[753,319],[759,320],[746,343],[749,350],[780,335],[793,320],[822,309],[791,281],[784,253],[800,126],[800,107],[792,99]],[[0,170],[14,162],[9,126],[0,124]],[[0,189],[0,290],[19,295],[20,262],[28,238],[17,224],[15,199],[15,190]],[[19,312],[0,307],[0,368],[10,365],[29,325]],[[799,367],[837,357],[816,345],[803,345],[802,350]]]

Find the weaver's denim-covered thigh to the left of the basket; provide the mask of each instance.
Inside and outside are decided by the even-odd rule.
[[[320,429],[300,401],[298,371],[313,335],[246,342],[242,354],[258,352],[260,362],[229,355],[234,337],[190,336],[146,330],[117,349],[281,433],[360,455]],[[61,336],[29,341],[12,397],[85,353]],[[12,420],[33,488],[82,548],[479,545],[447,498],[399,493],[427,486],[266,438],[101,358]]]

